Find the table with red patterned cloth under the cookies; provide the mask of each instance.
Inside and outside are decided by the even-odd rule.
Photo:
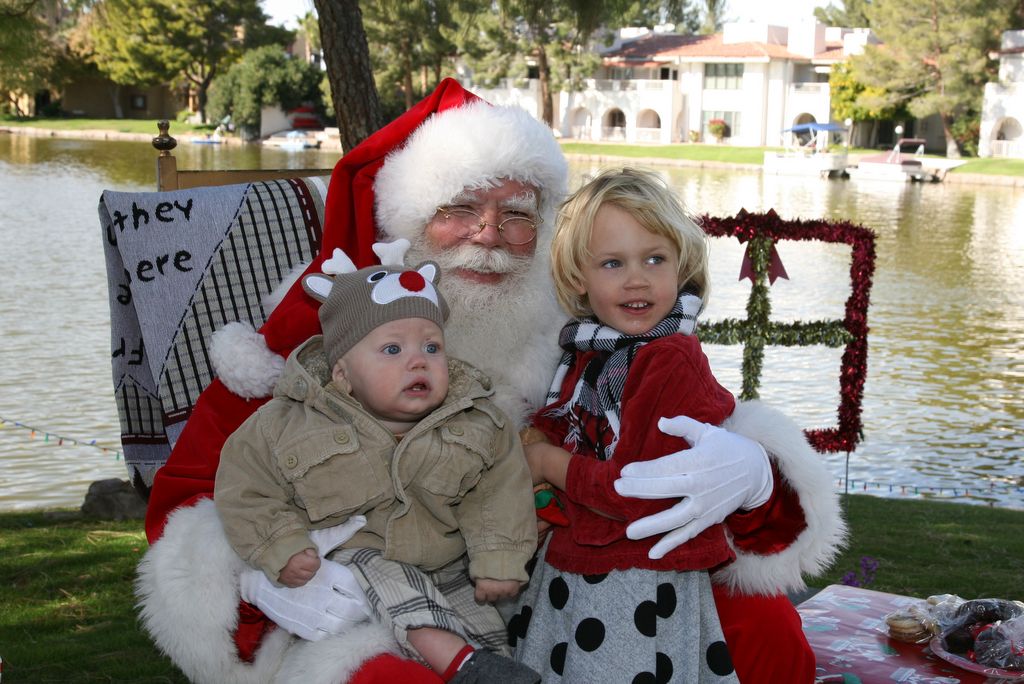
[[[870,589],[829,585],[797,606],[817,660],[818,682],[871,684],[1007,684],[961,670],[926,644],[890,639],[885,617],[921,599]]]

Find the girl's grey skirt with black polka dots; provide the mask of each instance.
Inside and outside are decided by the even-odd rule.
[[[538,562],[509,621],[545,682],[738,682],[707,572],[562,572]]]

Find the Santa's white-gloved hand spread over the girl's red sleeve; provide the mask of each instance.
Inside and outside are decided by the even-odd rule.
[[[640,518],[626,528],[632,540],[672,530],[651,547],[648,557],[662,558],[734,511],[757,508],[771,497],[771,466],[758,442],[686,416],[663,418],[657,427],[693,446],[631,463],[614,484],[623,497],[682,498],[672,508]]]

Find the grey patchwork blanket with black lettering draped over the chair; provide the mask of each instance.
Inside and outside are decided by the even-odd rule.
[[[147,488],[212,379],[208,342],[319,247],[326,180],[104,191],[99,222],[125,464]]]

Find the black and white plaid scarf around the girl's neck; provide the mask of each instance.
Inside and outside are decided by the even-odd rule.
[[[547,402],[553,403],[558,400],[561,394],[562,382],[572,366],[578,351],[600,351],[605,352],[596,355],[587,368],[580,375],[572,396],[561,407],[549,410],[545,415],[560,417],[569,414],[574,407],[580,407],[591,416],[596,418],[604,417],[608,426],[612,430],[613,439],[611,444],[605,450],[605,454],[598,455],[601,460],[611,458],[615,443],[618,441],[618,414],[623,400],[623,389],[626,387],[626,377],[630,371],[630,365],[636,356],[637,351],[653,339],[682,333],[692,335],[697,326],[697,313],[700,311],[701,301],[696,295],[683,292],[676,300],[676,304],[669,311],[669,314],[659,324],[651,328],[643,335],[626,335],[614,328],[605,326],[594,316],[586,318],[573,318],[562,328],[558,335],[558,346],[562,351],[562,358],[555,371],[554,380],[548,390]],[[580,435],[573,435],[573,430],[579,430],[579,425],[572,422],[566,442],[575,441]]]

